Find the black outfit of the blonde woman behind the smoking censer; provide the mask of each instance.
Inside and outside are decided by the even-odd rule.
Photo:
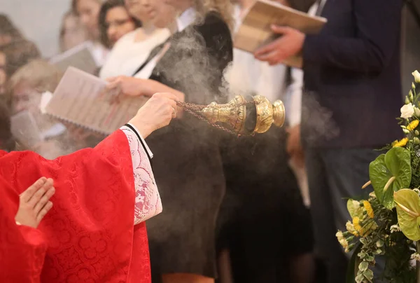
[[[230,30],[217,13],[169,39],[151,79],[186,95],[186,102],[222,101],[223,70],[232,61]],[[153,172],[163,212],[147,222],[152,273],[216,277],[216,219],[225,195],[221,135],[189,113],[153,132]]]

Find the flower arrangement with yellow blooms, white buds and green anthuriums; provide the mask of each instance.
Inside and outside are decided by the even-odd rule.
[[[398,118],[405,138],[370,163],[370,181],[362,189],[372,186],[373,192],[367,199],[347,201],[351,221],[336,234],[345,251],[353,251],[347,282],[373,282],[372,268],[380,257],[385,282],[420,283],[419,71],[413,76]]]

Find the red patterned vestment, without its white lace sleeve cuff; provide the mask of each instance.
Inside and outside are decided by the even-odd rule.
[[[6,247],[8,242],[1,241],[0,282],[6,282],[3,280],[6,276],[22,278],[11,282],[39,282],[36,270],[43,261],[42,237],[48,245],[41,270],[42,283],[151,282],[146,225],[143,221],[134,226],[130,146],[125,133],[118,130],[94,149],[56,160],[45,160],[29,151],[0,153],[2,187],[13,188],[18,195],[40,177],[47,177],[54,180],[56,189],[51,198],[54,206],[38,229],[26,229],[34,235],[41,233],[37,235],[39,241],[34,238],[22,250],[11,246],[24,254],[22,258],[9,259],[9,255],[5,258],[3,250],[10,249]],[[18,199],[10,199],[15,214]],[[1,214],[1,239],[18,235],[17,242],[24,241],[27,237],[18,232],[25,228],[17,228],[8,221],[8,228],[3,229]],[[23,265],[31,268],[22,268]]]

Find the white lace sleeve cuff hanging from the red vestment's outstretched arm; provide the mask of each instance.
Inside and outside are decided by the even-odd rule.
[[[131,125],[130,125],[131,126]],[[134,205],[134,225],[151,219],[153,216],[162,212],[162,202],[153,176],[152,167],[148,156],[146,143],[141,143],[141,135],[134,132],[135,128],[127,125],[121,130],[127,136],[128,144],[132,155],[134,186],[136,201]],[[145,147],[144,147],[145,146]]]

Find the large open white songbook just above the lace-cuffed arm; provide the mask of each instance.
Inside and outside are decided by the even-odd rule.
[[[106,81],[69,67],[45,111],[50,116],[100,134],[111,134],[134,117],[148,97],[106,90]]]

